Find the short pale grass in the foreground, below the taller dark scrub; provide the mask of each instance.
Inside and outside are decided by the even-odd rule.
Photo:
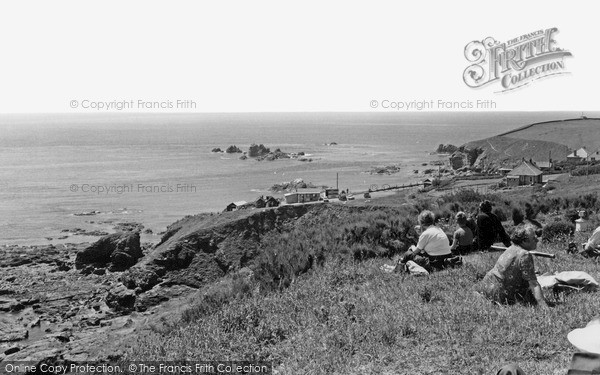
[[[541,272],[595,263],[558,253]],[[460,269],[417,278],[386,274],[388,260],[328,262],[282,292],[250,293],[138,339],[131,358],[272,361],[281,374],[494,374],[516,362],[527,374],[564,374],[572,329],[597,315],[597,294],[558,298],[547,311],[497,306],[473,285],[499,253],[467,256]],[[553,298],[553,297],[551,297]]]

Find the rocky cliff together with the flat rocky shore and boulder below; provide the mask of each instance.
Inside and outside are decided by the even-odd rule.
[[[159,244],[139,231],[94,244],[0,248],[0,362],[113,361],[131,335],[226,275],[252,272],[263,236],[320,207],[189,216]]]

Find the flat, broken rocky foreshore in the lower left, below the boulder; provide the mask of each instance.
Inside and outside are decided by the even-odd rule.
[[[108,290],[121,285],[117,274],[82,276],[74,269],[85,246],[0,248],[6,312],[0,313],[0,362],[118,358],[119,342],[142,320],[127,318],[132,323],[125,327],[118,316],[123,312],[104,303]]]

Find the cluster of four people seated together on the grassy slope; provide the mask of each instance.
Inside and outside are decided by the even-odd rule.
[[[535,227],[517,226],[509,237],[498,217],[492,213],[489,201],[482,202],[479,210],[476,221],[470,220],[464,212],[456,214],[458,228],[453,234],[452,244],[446,233],[436,225],[434,213],[429,210],[421,212],[417,245],[410,247],[399,264],[413,261],[428,271],[440,270],[455,264],[456,257],[475,249],[487,251],[500,240],[507,249],[480,283],[480,292],[499,303],[523,299],[546,306],[535,275],[533,256],[529,253],[537,247]]]

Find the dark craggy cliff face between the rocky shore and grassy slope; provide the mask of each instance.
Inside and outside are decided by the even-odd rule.
[[[135,290],[134,308],[143,310],[154,304],[148,301],[149,298],[160,302],[155,295],[157,288],[199,288],[230,271],[250,265],[258,255],[265,233],[282,231],[285,225],[321,206],[282,206],[187,217],[171,225],[161,243],[125,272],[121,281],[127,288]],[[148,292],[153,288],[155,290]],[[130,301],[132,292],[119,290],[115,293],[125,293]],[[111,298],[118,300],[115,296]]]

